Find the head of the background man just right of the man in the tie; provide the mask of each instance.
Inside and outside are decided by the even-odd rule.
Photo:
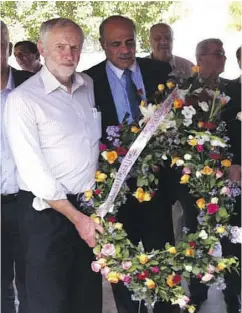
[[[173,48],[173,31],[170,25],[153,25],[150,29],[150,45],[153,59],[169,62]]]

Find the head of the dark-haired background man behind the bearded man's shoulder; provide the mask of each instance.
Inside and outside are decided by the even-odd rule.
[[[36,73],[41,69],[40,54],[32,41],[19,41],[14,46],[14,56],[24,71]]]

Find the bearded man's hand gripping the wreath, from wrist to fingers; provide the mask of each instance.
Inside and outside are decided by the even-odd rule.
[[[103,227],[83,213],[78,213],[80,213],[80,215],[77,214],[75,216],[74,225],[80,237],[88,244],[89,247],[93,248],[96,245],[96,231],[103,233]]]

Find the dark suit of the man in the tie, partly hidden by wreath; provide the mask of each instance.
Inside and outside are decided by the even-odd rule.
[[[158,84],[165,83],[171,67],[168,63],[150,59],[136,59],[141,70],[146,96],[149,99],[157,90]],[[106,61],[88,69],[86,73],[94,81],[96,105],[102,113],[103,137],[107,126],[118,125],[116,107],[112,97]],[[169,168],[162,168],[160,192],[150,202],[139,203],[134,197],[128,196],[128,201],[118,212],[118,219],[124,224],[130,240],[137,244],[141,239],[146,250],[161,249],[166,242],[173,242],[173,226],[171,215],[171,201],[168,180]]]

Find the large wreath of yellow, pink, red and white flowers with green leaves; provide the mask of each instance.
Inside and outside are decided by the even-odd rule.
[[[228,224],[240,189],[226,178],[232,154],[226,124],[219,120],[229,97],[202,81],[197,67],[194,71],[190,80],[170,78],[165,85],[158,85],[154,103],[141,101],[142,118],[138,123],[124,121],[107,128],[108,142],[100,145],[96,186],[81,199],[82,208],[104,227],[104,233],[97,235],[93,271],[100,271],[110,283],[122,281],[132,291],[133,300],[144,300],[152,307],[160,299],[171,301],[189,313],[196,308],[181,286],[182,279],[195,276],[201,283],[224,289],[225,271],[237,270],[238,262],[235,257],[215,256],[214,249],[223,236],[233,243],[241,242],[240,228]],[[174,90],[170,112],[128,172],[108,214],[100,214],[130,146]],[[184,229],[183,239],[176,246],[167,243],[164,250],[145,252],[142,243],[134,246],[129,241],[115,215],[126,202],[131,176],[137,177],[133,196],[139,202],[151,200],[157,190],[158,166],[168,158],[171,167],[182,169],[180,183],[186,184],[196,198],[198,229],[196,233]]]

